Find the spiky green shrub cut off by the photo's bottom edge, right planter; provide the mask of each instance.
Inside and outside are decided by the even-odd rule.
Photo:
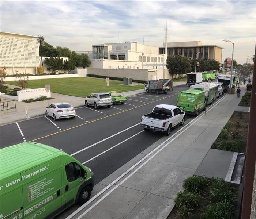
[[[233,214],[233,206],[229,201],[221,201],[206,207],[203,215],[207,219],[230,219]]]

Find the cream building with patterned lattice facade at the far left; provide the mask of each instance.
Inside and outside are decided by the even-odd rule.
[[[40,65],[38,36],[0,32],[0,67],[7,74],[36,74]]]

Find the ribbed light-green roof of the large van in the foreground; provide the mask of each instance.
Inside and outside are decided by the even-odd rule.
[[[24,172],[65,152],[40,143],[23,142],[0,149],[0,179]]]

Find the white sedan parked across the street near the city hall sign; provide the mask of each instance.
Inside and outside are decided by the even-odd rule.
[[[52,103],[45,110],[46,116],[52,116],[54,120],[62,118],[75,118],[76,111],[69,103]]]

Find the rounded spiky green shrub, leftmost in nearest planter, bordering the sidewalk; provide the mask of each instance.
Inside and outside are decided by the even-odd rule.
[[[174,199],[175,204],[181,207],[194,208],[199,205],[201,197],[193,192],[180,191]]]

